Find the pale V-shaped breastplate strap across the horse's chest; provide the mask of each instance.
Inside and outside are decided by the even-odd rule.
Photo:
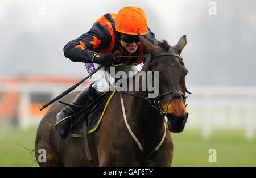
[[[125,125],[126,125],[127,129],[129,130],[129,133],[131,134],[131,137],[133,137],[134,141],[139,146],[139,150],[141,150],[142,155],[144,157],[144,159],[143,159],[144,162],[148,163],[150,161],[150,156],[154,155],[156,153],[156,151],[158,151],[160,146],[163,145],[164,139],[166,138],[166,124],[164,123],[164,134],[163,134],[162,140],[160,141],[158,146],[156,146],[155,149],[149,155],[146,155],[146,152],[144,151],[143,146],[141,145],[141,142],[139,142],[138,138],[135,136],[135,134],[133,133],[133,131],[131,130],[131,128],[130,128],[128,122],[127,122],[126,113],[125,113],[125,105],[123,104],[122,93],[120,93],[120,100],[121,100],[122,111],[123,111],[123,119],[125,120]]]

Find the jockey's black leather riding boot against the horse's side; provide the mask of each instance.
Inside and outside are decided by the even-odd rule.
[[[98,94],[97,96],[96,94],[97,91],[92,86],[84,88],[84,90],[82,90],[80,94],[76,96],[75,100],[72,101],[71,105],[67,105],[57,114],[55,128],[57,129],[57,132],[61,138],[67,138],[71,129],[72,115],[81,109],[81,107],[73,106],[84,105],[84,107],[87,107],[98,96],[100,96]]]

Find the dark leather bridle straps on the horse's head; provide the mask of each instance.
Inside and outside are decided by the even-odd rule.
[[[151,63],[152,63],[152,61],[153,61],[155,58],[162,57],[162,56],[175,56],[175,57],[180,58],[180,60],[183,60],[183,58],[182,58],[179,54],[175,54],[175,53],[159,53],[159,54],[155,54],[155,55],[150,56],[148,71],[151,71]],[[119,57],[116,57],[116,58],[125,58],[125,57],[143,57],[144,59],[147,59],[148,56],[119,56]],[[191,92],[187,91],[187,89],[185,89],[185,91],[186,91],[187,93],[191,94]],[[139,95],[134,95],[134,94],[129,94],[129,93],[123,92],[123,91],[119,91],[119,92],[120,92],[120,94],[126,94],[126,95],[134,96],[134,97],[137,97],[137,98],[143,98],[143,99],[145,99],[145,100],[148,101],[148,102],[150,103],[150,105],[152,105],[154,108],[159,109],[159,110],[160,110],[160,113],[162,113],[162,116],[163,116],[163,117],[164,117],[164,115],[167,115],[167,113],[168,113],[168,107],[169,107],[169,105],[171,104],[171,102],[172,102],[175,98],[180,98],[180,99],[182,100],[183,104],[187,106],[187,104],[186,104],[187,96],[185,96],[185,94],[183,94],[183,92],[181,92],[181,91],[179,91],[179,90],[164,92],[163,94],[160,94],[160,93],[159,93],[158,96],[157,96],[156,98],[154,98],[154,100],[151,100],[151,99],[148,98],[148,97],[139,96]],[[163,109],[162,109],[162,107],[160,107],[159,102],[160,102],[160,99],[161,99],[163,96],[166,96],[166,95],[172,95],[172,98],[171,98],[170,101],[168,102],[166,112],[164,112]]]

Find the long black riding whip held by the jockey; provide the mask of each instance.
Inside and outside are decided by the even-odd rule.
[[[114,56],[117,56],[118,54],[118,50],[115,51],[113,54]],[[90,73],[87,77],[85,77],[84,79],[82,79],[79,83],[73,85],[72,87],[68,88],[68,90],[64,91],[62,94],[60,94],[59,96],[56,96],[55,98],[53,98],[51,101],[49,101],[48,103],[42,105],[42,107],[40,107],[40,111],[42,111],[44,108],[48,107],[48,105],[51,105],[52,103],[54,103],[55,101],[59,100],[60,98],[63,98],[63,96],[67,95],[69,92],[75,90],[76,87],[78,87],[82,82],[84,82],[86,79],[88,79],[89,77],[91,77],[93,74],[95,74],[98,70],[100,70],[104,65],[100,65],[97,67],[97,69],[95,69],[92,73]]]

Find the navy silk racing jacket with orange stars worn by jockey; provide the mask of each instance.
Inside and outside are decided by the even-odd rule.
[[[89,32],[84,33],[79,38],[69,41],[64,47],[64,55],[73,62],[92,63],[92,57],[96,53],[114,53],[119,51],[117,56],[143,56],[146,54],[142,45],[133,54],[127,52],[121,46],[115,35],[115,16],[117,14],[105,14],[96,20]],[[157,45],[155,34],[148,29],[146,39]],[[142,63],[143,58],[121,58],[121,63],[125,65]]]

